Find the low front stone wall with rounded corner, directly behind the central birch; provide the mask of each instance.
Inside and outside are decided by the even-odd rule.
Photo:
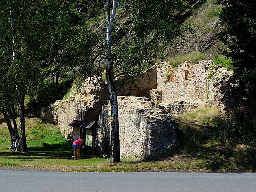
[[[177,142],[176,127],[171,116],[153,106],[147,97],[120,96],[119,103],[119,138],[121,157],[145,157],[171,148]],[[103,107],[98,124],[107,129],[98,129],[98,153],[109,155],[111,132],[110,105]]]

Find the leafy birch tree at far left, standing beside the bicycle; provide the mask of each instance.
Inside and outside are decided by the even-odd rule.
[[[27,152],[24,100],[28,86],[38,82],[37,59],[40,49],[40,24],[36,22],[41,1],[1,0],[2,57],[9,95],[17,101],[20,117],[20,150]],[[3,76],[1,77],[4,78]],[[8,97],[8,95],[4,95]],[[16,135],[16,134],[15,134]]]

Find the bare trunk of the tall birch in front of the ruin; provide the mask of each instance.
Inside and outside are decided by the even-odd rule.
[[[111,157],[110,162],[120,162],[120,140],[119,140],[119,121],[118,121],[118,104],[117,104],[117,90],[115,87],[115,78],[113,72],[113,63],[111,61],[111,24],[115,17],[117,1],[113,0],[113,9],[110,15],[110,1],[107,0],[105,6],[106,11],[106,80],[109,92],[109,100],[111,104],[111,115],[113,121],[111,121]]]

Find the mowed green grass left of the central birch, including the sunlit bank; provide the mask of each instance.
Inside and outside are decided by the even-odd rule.
[[[59,127],[42,123],[37,118],[26,119],[26,138],[28,153],[9,151],[9,132],[0,126],[0,166],[38,166],[38,167],[79,167],[95,166],[109,162],[106,158],[85,158],[73,160],[72,141],[64,138]]]

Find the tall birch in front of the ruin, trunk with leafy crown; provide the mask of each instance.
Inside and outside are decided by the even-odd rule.
[[[164,46],[179,33],[179,25],[187,2],[193,0],[95,0],[80,1],[86,7],[88,17],[94,17],[95,33],[100,39],[100,30],[105,37],[105,45],[97,46],[97,51],[104,54],[106,82],[111,104],[111,162],[120,162],[119,152],[119,121],[117,90],[115,78],[120,75],[134,76],[152,65],[156,58],[161,56]],[[117,8],[120,8],[127,17],[130,28],[118,23],[120,20]],[[103,9],[102,9],[103,8]],[[102,14],[104,13],[104,14]],[[104,17],[105,19],[102,19]],[[105,28],[102,27],[105,24]],[[104,26],[104,25],[103,25]],[[120,28],[124,27],[124,30]],[[99,40],[100,42],[100,40]],[[97,60],[97,59],[94,59]]]

